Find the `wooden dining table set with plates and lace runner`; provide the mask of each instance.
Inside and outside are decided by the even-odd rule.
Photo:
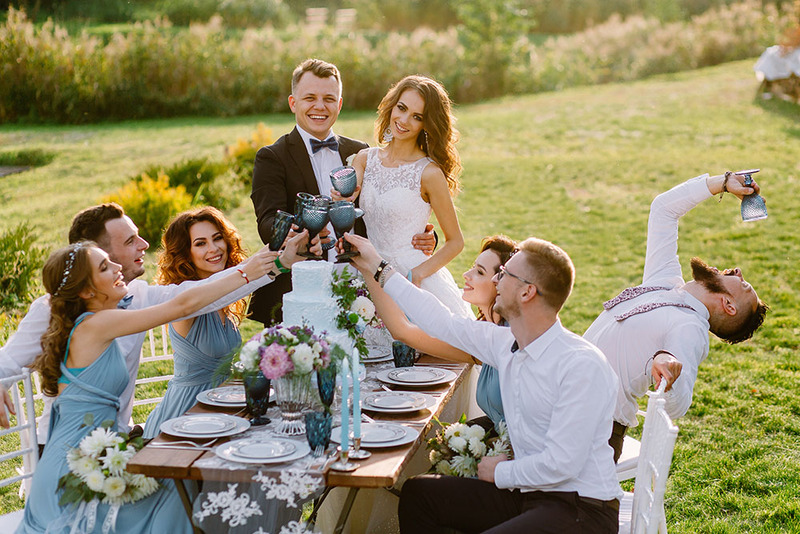
[[[435,394],[436,404],[429,409],[421,410],[414,413],[404,414],[384,414],[384,413],[371,413],[367,412],[376,421],[414,421],[419,422],[420,425],[413,425],[412,428],[419,430],[419,438],[413,443],[393,447],[390,449],[373,449],[371,450],[372,456],[366,460],[359,461],[359,468],[351,473],[344,473],[339,471],[327,470],[324,474],[326,490],[323,493],[320,502],[316,503],[316,507],[321,504],[321,500],[333,487],[347,487],[351,488],[346,498],[344,507],[337,522],[335,532],[341,532],[347,517],[350,513],[350,508],[353,505],[356,494],[362,488],[392,488],[400,478],[400,474],[411,460],[417,449],[424,443],[425,436],[428,431],[433,427],[435,422],[434,416],[438,417],[447,403],[452,399],[456,390],[464,383],[465,378],[468,376],[472,368],[471,364],[454,365],[438,358],[431,356],[423,356],[420,358],[417,365],[433,365],[433,366],[446,366],[447,369],[456,373],[456,378],[449,384],[441,386],[431,386],[424,388],[409,388],[409,391],[430,392]],[[374,375],[376,371],[372,365],[367,365],[367,376]],[[403,389],[395,387],[396,389]],[[362,398],[365,394],[372,392],[372,389],[365,389],[362,387]],[[226,408],[215,408],[213,406],[206,406],[203,404],[195,405],[190,413],[232,413],[232,410]],[[334,416],[334,421],[336,416]],[[233,439],[236,436],[232,437]],[[224,443],[229,438],[223,438],[215,445]],[[160,434],[154,442],[170,442],[177,441],[178,438],[173,438],[165,434]],[[151,446],[144,447],[139,451],[129,462],[128,471],[132,473],[140,473],[143,475],[156,477],[156,478],[171,478],[175,479],[176,487],[181,494],[184,508],[186,509],[189,517],[192,517],[192,503],[186,491],[185,485],[182,481],[185,480],[226,480],[231,481],[231,471],[225,470],[224,472],[217,473],[213,469],[195,467],[194,464],[197,460],[207,456],[213,455],[211,451],[196,451],[196,450],[175,450],[175,449],[159,449]],[[241,479],[241,482],[252,482],[252,477],[257,471],[267,474],[279,474],[281,466],[254,466],[253,469],[242,469],[235,472],[235,477]],[[234,481],[236,478],[234,478]],[[313,515],[312,515],[313,518]],[[201,532],[195,528],[196,532]]]

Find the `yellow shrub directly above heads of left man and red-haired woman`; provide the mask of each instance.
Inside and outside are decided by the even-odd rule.
[[[192,197],[183,186],[170,187],[169,178],[162,174],[156,179],[142,176],[141,180],[129,182],[101,202],[120,204],[139,227],[139,235],[150,243],[158,243],[167,222],[188,209]]]

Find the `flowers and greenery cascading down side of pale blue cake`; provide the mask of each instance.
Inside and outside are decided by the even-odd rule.
[[[344,269],[341,273],[334,271],[331,292],[339,304],[336,326],[347,331],[361,357],[367,356],[369,351],[363,335],[364,330],[368,326],[382,328],[383,322],[375,313],[375,305],[372,303],[366,284],[349,269]]]

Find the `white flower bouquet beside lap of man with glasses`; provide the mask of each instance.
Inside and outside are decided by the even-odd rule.
[[[442,423],[438,419],[436,422],[442,428],[428,440],[428,459],[433,472],[474,478],[478,476],[478,462],[484,456],[513,457],[504,422],[497,425],[498,435],[491,437],[480,425],[468,425],[466,415],[457,423]]]

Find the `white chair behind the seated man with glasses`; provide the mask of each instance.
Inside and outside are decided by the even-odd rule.
[[[662,382],[665,386],[666,383]],[[641,452],[633,493],[625,493],[619,510],[620,534],[666,534],[664,494],[678,427],[665,408],[664,387],[648,392]]]

